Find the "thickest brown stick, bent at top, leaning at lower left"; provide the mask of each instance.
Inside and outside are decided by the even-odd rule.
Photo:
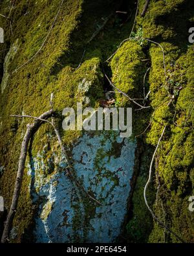
[[[19,157],[19,165],[18,165],[18,169],[17,169],[16,183],[15,183],[15,187],[14,187],[14,194],[12,196],[12,204],[10,206],[10,211],[8,213],[8,216],[6,218],[5,228],[3,230],[3,235],[1,238],[2,243],[5,243],[6,240],[8,240],[8,236],[9,236],[10,230],[12,228],[14,216],[16,214],[17,202],[18,202],[19,193],[21,190],[21,184],[22,184],[22,180],[23,180],[23,172],[25,169],[25,161],[27,158],[27,150],[28,150],[28,143],[30,141],[30,137],[32,136],[32,132],[36,128],[38,128],[38,126],[41,124],[41,121],[45,121],[45,119],[50,117],[53,113],[54,113],[53,110],[49,110],[49,111],[43,113],[43,115],[41,115],[39,117],[39,120],[36,120],[33,124],[27,125],[27,132],[25,134],[25,137],[23,138],[23,142],[21,145],[21,153],[20,153],[20,157]]]

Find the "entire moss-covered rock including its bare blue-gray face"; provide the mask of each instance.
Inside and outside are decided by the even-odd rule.
[[[128,220],[125,237],[129,242],[178,242],[175,236],[153,223],[151,217],[146,218],[149,212],[143,197],[153,147],[166,126],[155,157],[149,204],[162,222],[186,242],[193,242],[193,213],[188,210],[194,182],[193,45],[188,43],[188,28],[192,27],[194,17],[193,1],[153,0],[146,16],[140,17],[145,4],[140,0],[132,38],[118,49],[109,66],[105,60],[129,37],[135,1],[67,0],[56,18],[60,3],[15,1],[10,19],[0,16],[0,27],[5,30],[5,43],[0,44],[0,163],[3,167],[0,190],[8,209],[21,141],[27,123],[32,122],[10,118],[10,115],[40,115],[50,108],[48,97],[53,93],[59,132],[68,154],[74,159],[81,184],[105,204],[109,203],[108,196],[113,196],[115,202],[103,208],[91,207],[88,199],[80,201],[78,191],[65,176],[54,131],[49,124],[43,124],[29,148],[12,241],[94,241],[96,237],[95,241],[109,242],[120,235]],[[10,7],[8,1],[1,1],[0,13],[8,16]],[[115,14],[116,10],[127,11],[129,16]],[[134,155],[135,144],[118,143],[117,136],[109,133],[103,137],[98,134],[87,137],[80,131],[65,132],[60,128],[63,108],[76,108],[77,101],[97,108],[107,89],[113,89],[104,79],[105,71],[112,76],[115,86],[129,97],[151,106],[136,110],[134,103],[115,92],[115,106],[130,106],[136,110],[133,112],[133,137],[142,134],[137,138],[137,145],[145,150],[144,157],[137,159],[142,148],[136,148],[139,153]],[[146,100],[143,99],[145,93],[149,93]],[[138,163],[138,170],[135,170],[138,177],[133,177],[131,187],[133,167],[137,168],[134,161]],[[124,176],[120,172],[122,165]],[[90,166],[89,174],[82,177],[87,166]],[[132,204],[127,204],[128,201]],[[105,209],[110,212],[109,216]],[[129,218],[125,218],[127,212]],[[106,225],[110,226],[108,234],[102,229]]]

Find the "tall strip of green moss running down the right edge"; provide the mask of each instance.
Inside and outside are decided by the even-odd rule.
[[[140,1],[141,10],[144,3]],[[138,16],[136,26],[137,30],[139,27],[143,28],[144,38],[160,43],[164,49],[166,64],[165,73],[162,49],[155,43],[149,44],[147,51],[151,58],[149,99],[153,113],[151,128],[146,132],[146,142],[156,146],[164,126],[167,126],[155,157],[155,174],[160,177],[160,189],[158,189],[155,204],[151,207],[162,222],[187,242],[193,241],[193,224],[191,223],[193,216],[188,211],[188,197],[193,194],[193,111],[191,106],[193,105],[194,78],[191,71],[193,70],[193,45],[188,47],[187,41],[187,25],[193,17],[193,10],[193,3],[189,1],[151,1],[146,17]],[[171,99],[173,101],[169,104]],[[136,186],[139,183],[141,184],[140,177]],[[157,179],[155,187],[158,188]],[[135,203],[136,197],[138,198],[138,192],[135,191],[133,218],[129,221],[128,230],[129,234],[132,230],[134,240],[143,240],[142,232],[138,229],[142,225],[142,221],[139,221],[142,212]],[[140,196],[141,199],[142,197]],[[147,228],[147,232],[150,232],[150,229]],[[154,223],[147,241],[179,242],[175,236],[166,232],[157,223]]]

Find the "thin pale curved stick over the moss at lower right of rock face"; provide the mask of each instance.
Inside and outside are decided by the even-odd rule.
[[[147,180],[147,183],[146,183],[146,186],[144,188],[144,200],[145,200],[145,203],[146,203],[146,206],[147,206],[147,209],[150,211],[151,215],[153,216],[153,218],[156,220],[156,222],[158,222],[158,224],[160,224],[162,227],[166,228],[167,231],[169,231],[170,233],[172,233],[175,237],[177,237],[178,240],[180,240],[181,242],[185,243],[185,241],[180,238],[176,233],[174,233],[171,229],[169,229],[169,227],[167,227],[161,220],[159,220],[155,214],[153,213],[152,209],[149,207],[149,204],[147,203],[147,198],[146,198],[146,192],[147,192],[147,187],[151,181],[151,174],[152,174],[152,167],[153,167],[153,162],[154,162],[154,159],[155,159],[155,155],[156,155],[156,152],[158,150],[158,146],[160,145],[160,141],[162,140],[162,137],[164,135],[164,132],[166,130],[166,127],[167,126],[164,126],[163,130],[162,130],[162,135],[160,136],[160,139],[158,140],[158,144],[156,146],[156,149],[155,149],[155,152],[153,154],[153,157],[151,159],[151,164],[150,164],[150,167],[149,167],[149,178]]]

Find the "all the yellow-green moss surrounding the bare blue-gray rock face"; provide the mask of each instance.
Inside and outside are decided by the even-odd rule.
[[[1,2],[0,12],[8,15],[8,1]],[[118,17],[111,16],[105,29],[89,45],[87,41],[102,25],[103,20],[118,10],[120,6],[118,2],[65,1],[43,49],[32,62],[16,73],[12,72],[34,56],[41,47],[58,12],[59,1],[16,1],[11,14],[12,36],[9,22],[0,17],[0,27],[6,32],[6,41],[4,45],[0,45],[0,51],[10,46],[14,47],[16,40],[19,47],[8,63],[9,76],[7,79],[6,76],[3,78],[6,79],[6,87],[3,86],[5,90],[0,100],[2,113],[0,163],[6,167],[0,185],[3,195],[6,195],[7,208],[12,198],[21,141],[26,124],[32,122],[30,119],[16,121],[10,118],[10,115],[25,113],[38,116],[50,108],[48,97],[50,93],[54,93],[54,108],[59,113],[60,128],[63,108],[76,108],[76,101],[83,101],[87,106],[85,97],[90,100],[92,107],[98,106],[98,100],[104,97],[102,62],[117,49],[120,41],[129,36],[134,15],[123,26]],[[139,10],[142,10],[144,4],[145,1],[140,0]],[[131,2],[129,6],[127,5],[127,10],[133,12],[130,6]],[[167,224],[187,241],[193,240],[193,216],[188,211],[188,196],[193,193],[194,182],[191,133],[194,115],[192,111],[193,45],[188,47],[188,27],[189,25],[192,27],[193,10],[193,1],[151,1],[146,17],[142,18],[138,15],[135,34],[142,31],[144,38],[161,43],[166,57],[166,76],[160,47],[145,41],[142,45],[140,45],[141,41],[127,41],[110,64],[114,84],[128,93],[131,98],[144,97],[144,74],[151,66],[146,92],[151,90],[148,104],[152,108],[136,112],[138,114],[133,117],[133,131],[134,135],[143,132],[149,123],[150,115],[153,115],[151,128],[147,130],[145,137],[147,143],[156,146],[162,128],[167,125],[166,134],[156,156],[156,170],[161,177],[161,192],[158,196],[158,204],[152,206],[156,215],[167,221],[161,208],[163,204],[168,215]],[[76,70],[84,49],[86,51],[82,64]],[[0,53],[1,79],[6,51]],[[150,58],[150,62],[142,62],[145,58]],[[79,89],[83,80],[89,85],[87,91]],[[169,94],[174,98],[173,104],[167,106]],[[136,108],[119,93],[116,93],[116,102],[120,102],[120,106]],[[64,132],[61,128],[60,133],[65,145],[71,145],[72,141],[81,135],[80,132]],[[41,152],[43,145],[47,145],[48,142],[56,154],[60,154],[54,132],[48,124],[43,124],[34,137],[32,155]],[[52,159],[52,153],[47,150],[45,164],[49,159]],[[147,164],[150,159],[151,156],[147,159]],[[45,176],[49,178],[53,168],[51,165],[46,170]],[[146,168],[148,170],[148,166]],[[36,208],[28,192],[30,181],[26,172],[27,169],[14,220],[14,227],[17,227],[17,242],[21,241],[23,233],[27,233],[26,231],[33,225],[34,208]],[[150,219],[144,221],[146,206],[144,205],[145,211],[142,211],[138,203],[144,204],[142,188],[145,182],[146,175],[138,177],[133,198],[133,218],[128,225],[129,237],[133,241],[147,241],[152,228]],[[156,181],[155,187],[158,187]],[[88,215],[92,215],[91,209],[87,207]],[[164,235],[164,230],[158,224],[154,225],[149,241],[177,242],[173,235]]]

